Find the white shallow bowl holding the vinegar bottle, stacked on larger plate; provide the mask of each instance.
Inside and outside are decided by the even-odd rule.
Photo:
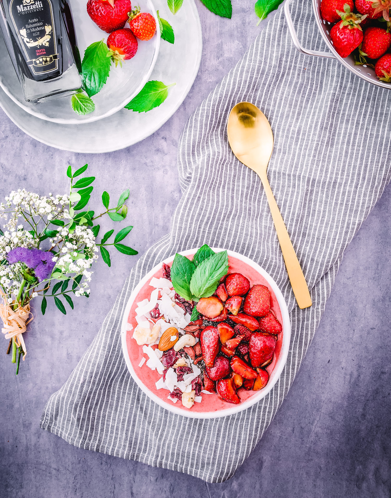
[[[108,34],[98,28],[87,13],[87,1],[69,0],[75,25],[78,48],[83,59],[86,48]],[[85,116],[77,115],[71,106],[71,97],[33,104],[23,98],[22,89],[11,59],[0,36],[0,87],[21,109],[41,120],[60,124],[93,123],[107,118],[122,109],[135,97],[149,80],[155,66],[160,47],[160,31],[156,10],[151,0],[142,0],[144,12],[150,12],[156,19],[157,32],[148,41],[138,40],[136,55],[122,64],[122,68],[111,65],[110,74],[103,88],[93,96],[95,111]],[[125,27],[129,27],[128,24]]]

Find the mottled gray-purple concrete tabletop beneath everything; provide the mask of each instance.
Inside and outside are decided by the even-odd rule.
[[[100,193],[130,188],[128,243],[143,253],[170,229],[181,196],[176,153],[195,107],[259,32],[251,6],[234,3],[232,20],[200,2],[200,72],[184,104],[154,135],[125,150],[84,155],[47,147],[0,110],[0,197],[25,186],[67,190],[66,167],[85,162]],[[263,23],[264,24],[264,23]],[[28,356],[16,377],[0,361],[0,496],[106,497],[389,497],[391,187],[346,251],[325,314],[281,409],[236,475],[209,485],[176,472],[77,449],[39,428],[49,395],[61,387],[98,332],[137,256],[112,252],[96,268],[90,299],[62,315],[51,304],[26,334]],[[111,226],[107,220],[102,230]]]

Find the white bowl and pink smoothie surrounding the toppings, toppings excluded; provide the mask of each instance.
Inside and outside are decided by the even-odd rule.
[[[213,248],[213,250],[215,252],[219,252],[224,249]],[[181,252],[181,254],[187,256],[189,259],[192,259],[195,252],[196,249],[191,249],[183,251]],[[148,356],[143,351],[143,346],[139,346],[135,339],[132,338],[132,336],[135,328],[137,327],[137,313],[135,311],[138,307],[137,303],[140,303],[144,299],[149,300],[151,298],[151,292],[154,290],[154,287],[149,285],[149,283],[152,277],[163,277],[162,263],[155,266],[155,268],[153,268],[147,275],[145,275],[141,279],[139,284],[135,287],[127,303],[122,320],[122,350],[129,372],[132,375],[133,379],[136,381],[137,385],[160,406],[163,406],[171,412],[187,417],[221,417],[237,413],[253,405],[257,401],[265,397],[266,394],[273,388],[274,384],[277,382],[284,369],[288,356],[291,326],[287,305],[280,289],[278,288],[275,281],[271,278],[271,276],[266,273],[266,271],[263,270],[258,264],[254,263],[254,261],[236,252],[230,250],[228,250],[227,252],[229,265],[228,274],[241,273],[250,281],[250,287],[255,284],[262,284],[267,286],[271,295],[270,308],[274,312],[276,318],[282,324],[283,330],[277,336],[278,339],[274,351],[273,361],[268,367],[266,367],[266,370],[270,375],[269,382],[263,389],[260,389],[258,391],[245,390],[243,388],[238,389],[237,393],[241,401],[239,404],[226,402],[216,392],[210,394],[201,393],[201,400],[199,402],[195,402],[191,408],[186,408],[180,400],[178,400],[178,402],[174,404],[174,402],[168,398],[168,395],[170,394],[169,390],[165,388],[157,389],[155,384],[162,377],[162,374],[158,373],[157,370],[151,370],[151,368],[146,365]],[[174,255],[166,259],[164,262],[171,266],[173,260]],[[153,322],[156,321],[157,320],[153,320]],[[153,349],[158,348],[157,344],[152,345],[151,347]],[[145,359],[144,362],[143,358]],[[140,364],[142,364],[141,367],[139,366]]]

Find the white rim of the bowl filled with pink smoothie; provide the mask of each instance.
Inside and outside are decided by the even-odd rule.
[[[194,254],[197,249],[189,249],[183,252],[180,252],[180,254],[184,256],[188,256],[191,254]],[[216,249],[213,248],[215,252],[224,250],[224,249]],[[121,341],[122,341],[122,352],[123,356],[125,358],[126,365],[129,369],[129,372],[131,376],[133,377],[134,381],[137,383],[137,385],[140,387],[140,389],[145,392],[145,394],[152,399],[152,401],[155,401],[158,405],[162,406],[163,408],[166,408],[167,410],[176,413],[177,415],[183,415],[186,417],[191,417],[191,418],[216,418],[216,417],[225,417],[229,415],[233,415],[235,413],[238,413],[242,410],[245,410],[246,408],[252,406],[253,404],[257,403],[260,401],[262,398],[264,398],[274,387],[276,384],[277,380],[280,378],[281,373],[283,372],[283,369],[285,367],[285,364],[287,362],[288,358],[288,351],[289,351],[289,346],[290,346],[290,341],[291,341],[291,322],[289,318],[289,313],[288,313],[288,308],[287,304],[285,302],[285,299],[276,284],[276,282],[273,280],[273,278],[267,273],[261,266],[259,266],[257,263],[252,261],[246,256],[243,256],[242,254],[239,254],[238,252],[234,252],[231,250],[228,250],[228,256],[233,256],[240,261],[243,261],[244,263],[248,264],[250,267],[254,268],[258,273],[261,274],[263,278],[268,283],[268,287],[274,292],[279,307],[282,315],[282,325],[283,325],[283,339],[282,339],[282,346],[281,346],[281,351],[279,354],[279,358],[273,368],[272,373],[270,374],[270,379],[266,387],[259,391],[255,391],[255,394],[251,396],[250,398],[246,399],[245,401],[242,401],[240,404],[230,404],[230,403],[225,403],[227,407],[225,409],[220,409],[218,411],[192,411],[192,409],[184,410],[183,408],[179,408],[174,404],[172,401],[166,398],[166,400],[161,399],[159,396],[157,396],[154,392],[152,392],[143,382],[141,378],[141,372],[142,369],[137,368],[137,371],[133,368],[132,362],[129,358],[129,353],[128,353],[128,348],[127,348],[127,343],[126,339],[128,334],[130,334],[130,337],[133,335],[133,330],[128,331],[127,330],[127,323],[128,323],[128,316],[130,313],[130,310],[132,308],[133,303],[135,302],[137,295],[139,291],[142,289],[144,284],[148,282],[152,276],[162,267],[162,263],[159,263],[156,265],[151,271],[149,271],[138,283],[138,285],[134,288],[133,292],[131,293],[128,303],[125,308],[125,312],[122,318],[122,324],[121,324]],[[165,259],[165,263],[172,263],[174,259],[174,255]],[[151,290],[153,288],[151,287]],[[134,344],[133,344],[134,343]],[[134,348],[142,348],[142,346],[138,346],[136,342],[132,339],[132,347]],[[145,365],[145,364],[144,364]],[[143,366],[144,367],[144,366]],[[145,366],[146,369],[148,367]],[[240,391],[239,391],[240,392]],[[247,391],[249,392],[249,391]],[[164,393],[167,393],[168,391],[164,390]],[[202,399],[204,397],[210,396],[210,394],[202,394]],[[240,394],[239,394],[240,396]],[[180,401],[178,401],[180,403]],[[197,404],[197,403],[195,403]],[[200,406],[202,406],[202,401],[200,403]]]

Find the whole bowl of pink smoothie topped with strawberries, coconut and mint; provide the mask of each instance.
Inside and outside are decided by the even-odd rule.
[[[179,415],[232,415],[266,396],[287,361],[288,308],[272,277],[234,251],[190,249],[133,290],[122,351],[137,385]]]

